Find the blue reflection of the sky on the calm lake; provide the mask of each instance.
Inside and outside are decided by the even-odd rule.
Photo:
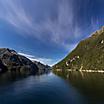
[[[0,85],[0,104],[85,104],[66,80],[50,73]]]

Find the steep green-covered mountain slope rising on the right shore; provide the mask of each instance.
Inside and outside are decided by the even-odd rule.
[[[104,27],[82,40],[54,70],[104,70]]]

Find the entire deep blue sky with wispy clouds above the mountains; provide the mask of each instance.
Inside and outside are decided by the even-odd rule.
[[[104,0],[0,0],[0,47],[54,65],[104,25]]]

